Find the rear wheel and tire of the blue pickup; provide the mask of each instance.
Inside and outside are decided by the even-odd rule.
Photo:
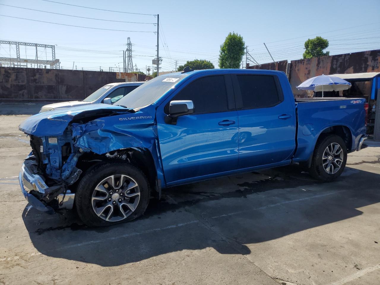
[[[337,145],[339,145],[342,152],[339,152],[339,147],[335,150]],[[337,135],[323,136],[318,139],[315,145],[309,174],[321,181],[332,181],[342,174],[346,162],[347,147],[344,140]]]

